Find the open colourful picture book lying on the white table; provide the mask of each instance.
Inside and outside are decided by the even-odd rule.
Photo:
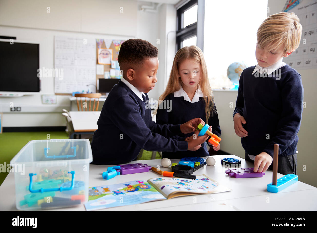
[[[166,200],[186,195],[227,192],[231,189],[220,185],[207,176],[198,175],[195,180],[159,177],[134,180],[127,183],[89,188],[86,210],[140,204]]]

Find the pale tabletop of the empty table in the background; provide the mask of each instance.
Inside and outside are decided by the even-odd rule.
[[[98,129],[97,120],[99,119],[100,111],[75,111],[69,113],[75,132],[95,131]]]

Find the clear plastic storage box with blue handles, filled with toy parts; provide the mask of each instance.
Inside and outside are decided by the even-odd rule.
[[[11,160],[16,187],[16,208],[62,208],[88,200],[88,139],[29,141]]]

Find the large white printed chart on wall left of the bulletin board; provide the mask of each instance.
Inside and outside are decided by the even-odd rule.
[[[55,36],[54,67],[55,94],[95,92],[95,39]]]

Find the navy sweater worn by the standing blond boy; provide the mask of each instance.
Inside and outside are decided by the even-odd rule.
[[[241,139],[250,155],[267,152],[273,156],[274,144],[279,144],[279,156],[296,152],[303,111],[301,75],[288,65],[270,75],[257,71],[255,66],[243,70],[233,115],[240,113],[248,136]]]

